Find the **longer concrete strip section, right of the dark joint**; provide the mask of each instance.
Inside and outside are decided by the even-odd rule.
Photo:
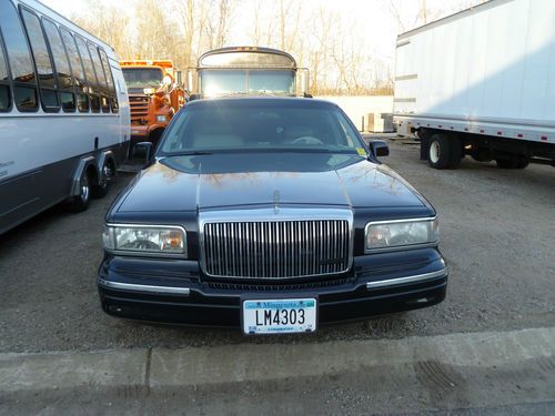
[[[152,351],[150,387],[264,382],[434,362],[501,366],[555,356],[555,328],[321,344],[240,344]]]

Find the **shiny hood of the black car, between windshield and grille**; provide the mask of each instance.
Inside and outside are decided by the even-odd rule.
[[[141,173],[118,211],[179,212],[268,204],[426,205],[391,169],[359,155],[242,153],[161,159]]]

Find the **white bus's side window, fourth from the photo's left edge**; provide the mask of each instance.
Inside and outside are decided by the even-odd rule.
[[[42,18],[42,27],[47,33],[52,59],[54,60],[58,89],[60,91],[60,101],[64,112],[75,111],[75,95],[73,94],[73,77],[71,77],[71,67],[63,48],[62,38],[56,24]]]

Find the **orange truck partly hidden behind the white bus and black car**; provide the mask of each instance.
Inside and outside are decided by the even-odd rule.
[[[120,61],[131,108],[131,145],[158,143],[173,114],[185,103],[181,72],[172,61]]]

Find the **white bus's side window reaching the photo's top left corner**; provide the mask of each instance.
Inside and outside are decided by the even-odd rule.
[[[0,26],[19,111],[37,111],[37,77],[21,21],[11,1],[0,1]]]

